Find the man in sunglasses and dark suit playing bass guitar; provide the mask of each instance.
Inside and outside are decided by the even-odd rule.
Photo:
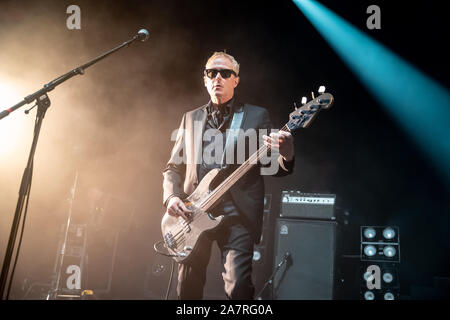
[[[183,115],[171,158],[163,171],[166,215],[181,217],[185,221],[189,221],[193,211],[183,200],[195,190],[209,171],[221,168],[224,164],[223,161],[209,161],[210,159],[201,157],[203,152],[213,150],[212,147],[219,142],[217,139],[221,140],[220,146],[227,146],[230,140],[227,129],[231,126],[244,131],[262,129],[267,132],[272,129],[266,109],[237,101],[234,91],[240,80],[239,64],[233,56],[225,52],[215,52],[206,63],[203,78],[211,100]],[[193,132],[195,130],[199,132]],[[211,132],[210,130],[217,133],[214,135],[215,139],[204,136],[206,132]],[[273,175],[285,176],[292,173],[294,144],[288,131],[258,135],[257,140],[258,146],[265,144],[271,150],[277,151],[277,168]],[[237,145],[242,146],[239,143]],[[248,148],[245,143],[243,145]],[[223,152],[224,149],[219,151]],[[184,153],[183,159],[187,161],[176,159],[180,157],[180,152]],[[244,152],[247,154],[248,150]],[[223,159],[217,154],[213,154],[213,157]],[[230,163],[227,161],[227,164]],[[254,298],[251,278],[253,245],[258,243],[261,237],[264,208],[264,179],[261,168],[261,164],[253,166],[215,202],[211,212],[214,216],[223,215],[223,220],[217,228],[208,231],[203,237],[195,258],[179,263],[179,299],[203,298],[213,241],[217,241],[222,254],[225,269],[222,277],[226,296],[229,299]]]

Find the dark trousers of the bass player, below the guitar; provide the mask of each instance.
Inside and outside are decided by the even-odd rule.
[[[201,241],[200,254],[189,264],[178,265],[178,299],[203,298],[206,268],[211,256],[211,246],[217,241],[222,253],[225,272],[222,278],[228,299],[253,299],[252,283],[253,239],[240,223],[239,217],[225,217],[222,225],[208,232]]]

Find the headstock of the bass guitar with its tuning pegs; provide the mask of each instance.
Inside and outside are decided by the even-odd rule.
[[[295,105],[295,111],[289,114],[289,122],[286,126],[289,131],[297,130],[298,128],[307,128],[314,118],[318,115],[322,109],[328,109],[334,102],[334,97],[330,93],[325,93],[325,87],[319,88],[320,96],[314,97],[312,93],[312,100],[307,102],[306,97],[302,99],[302,106],[297,107]]]

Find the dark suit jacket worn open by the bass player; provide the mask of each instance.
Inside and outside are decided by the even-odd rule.
[[[207,118],[207,105],[186,112],[181,120],[178,135],[172,149],[171,157],[163,171],[164,205],[173,196],[181,199],[190,195],[197,187],[197,163],[201,159],[202,139]],[[244,112],[241,129],[272,129],[272,122],[266,109],[249,104],[235,104],[235,112]],[[198,128],[194,130],[194,126]],[[269,131],[270,133],[270,131]],[[194,136],[195,135],[195,136]],[[258,141],[258,145],[263,142]],[[182,154],[184,161],[176,163],[176,155]],[[247,156],[248,157],[248,152]],[[280,164],[275,176],[285,176],[292,173],[294,161],[285,162],[278,157]],[[230,189],[232,199],[239,211],[243,224],[249,229],[255,243],[261,237],[264,211],[264,179],[260,167],[255,166]]]

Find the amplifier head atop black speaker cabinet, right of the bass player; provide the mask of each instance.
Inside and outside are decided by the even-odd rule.
[[[336,195],[283,191],[276,219],[272,298],[332,300]]]

